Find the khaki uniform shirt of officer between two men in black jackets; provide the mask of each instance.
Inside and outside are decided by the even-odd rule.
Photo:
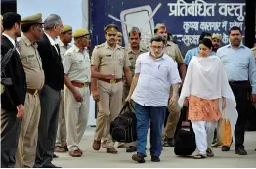
[[[37,44],[32,44],[24,35],[19,41],[21,49],[21,62],[26,74],[28,89],[39,90],[45,82],[44,70],[42,69],[41,57],[37,51]]]

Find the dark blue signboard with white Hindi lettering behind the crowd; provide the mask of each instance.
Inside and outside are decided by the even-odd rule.
[[[198,44],[203,31],[221,34],[229,43],[228,31],[238,26],[244,31],[245,0],[92,0],[92,46],[105,42],[104,27],[114,23],[128,44],[128,32],[136,26],[142,43],[149,45],[157,23],[164,23],[181,51]]]

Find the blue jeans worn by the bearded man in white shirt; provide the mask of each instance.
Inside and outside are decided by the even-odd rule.
[[[147,134],[150,120],[150,155],[159,157],[162,151],[162,126],[166,106],[141,106],[135,102],[137,118],[137,152],[146,155]]]

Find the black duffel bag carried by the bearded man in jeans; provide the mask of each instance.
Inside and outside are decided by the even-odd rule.
[[[135,113],[132,111],[134,107],[126,102],[120,114],[110,124],[110,134],[115,142],[130,143],[137,140]]]

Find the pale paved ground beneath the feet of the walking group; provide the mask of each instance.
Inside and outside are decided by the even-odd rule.
[[[131,153],[125,149],[118,149],[118,154],[107,154],[106,150],[94,151],[92,148],[94,128],[87,129],[80,144],[84,154],[80,158],[70,157],[68,153],[58,153],[59,158],[53,163],[64,168],[256,168],[256,132],[247,132],[245,147],[247,156],[235,155],[234,146],[229,152],[222,152],[220,148],[213,148],[215,157],[195,160],[191,157],[182,158],[175,156],[173,148],[164,148],[160,163],[150,161],[149,150],[146,163],[138,164],[132,161]],[[149,149],[149,143],[148,143]]]

